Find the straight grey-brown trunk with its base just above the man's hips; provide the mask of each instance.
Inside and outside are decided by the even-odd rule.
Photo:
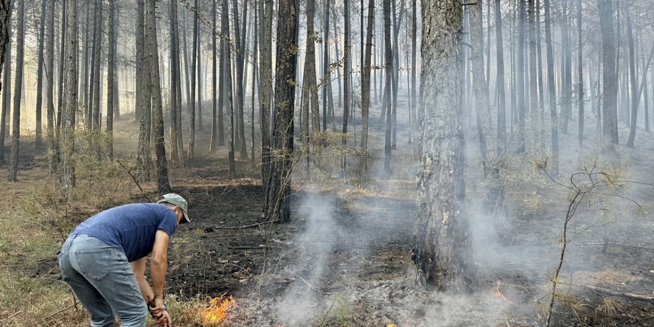
[[[22,1],[22,0],[18,0]],[[68,1],[67,1],[68,2]],[[77,111],[77,0],[67,3],[65,22],[65,101],[61,112],[61,190],[68,201],[75,199],[75,112]]]

